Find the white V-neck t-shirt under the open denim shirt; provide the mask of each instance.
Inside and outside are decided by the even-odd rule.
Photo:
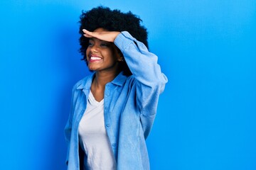
[[[80,145],[85,152],[85,169],[117,169],[105,128],[104,99],[100,102],[96,101],[91,91],[78,132]]]

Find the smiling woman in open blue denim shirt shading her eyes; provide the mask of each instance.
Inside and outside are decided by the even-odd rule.
[[[102,6],[80,16],[80,52],[93,73],[73,87],[68,169],[149,169],[145,140],[167,79],[140,21]]]

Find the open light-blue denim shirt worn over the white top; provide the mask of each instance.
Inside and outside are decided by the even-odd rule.
[[[161,73],[156,55],[128,32],[120,33],[114,44],[122,51],[132,75],[127,77],[121,72],[105,86],[107,136],[118,170],[150,169],[145,140],[154,123],[159,94],[164,91],[167,78]],[[69,170],[79,169],[78,125],[85,112],[93,77],[94,74],[85,77],[73,87],[70,116],[65,126]]]

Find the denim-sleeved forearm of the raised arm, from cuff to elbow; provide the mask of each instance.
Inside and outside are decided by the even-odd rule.
[[[149,52],[142,42],[124,31],[117,35],[114,44],[122,51],[135,79],[146,86],[166,84],[167,79],[157,64],[157,56]]]

